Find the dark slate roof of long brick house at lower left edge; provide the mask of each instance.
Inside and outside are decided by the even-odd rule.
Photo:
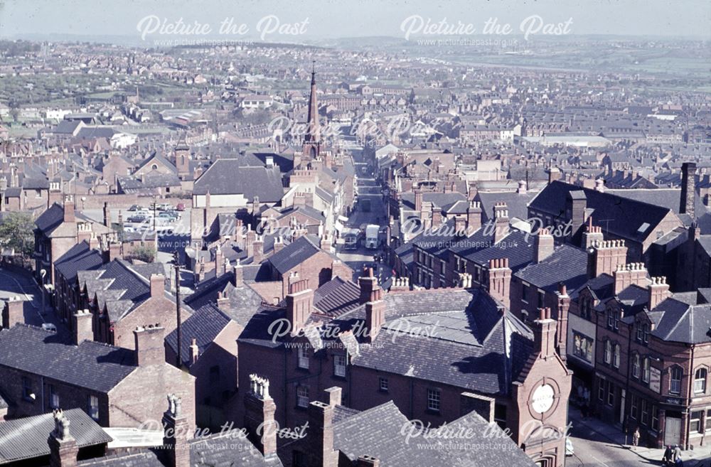
[[[67,345],[51,331],[17,324],[0,331],[0,365],[108,392],[137,367],[131,350],[85,340]],[[1,373],[1,371],[0,371]]]

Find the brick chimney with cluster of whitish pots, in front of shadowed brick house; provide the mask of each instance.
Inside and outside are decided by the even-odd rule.
[[[247,438],[266,457],[277,453],[277,406],[269,395],[269,380],[250,375],[250,392],[245,395]]]

